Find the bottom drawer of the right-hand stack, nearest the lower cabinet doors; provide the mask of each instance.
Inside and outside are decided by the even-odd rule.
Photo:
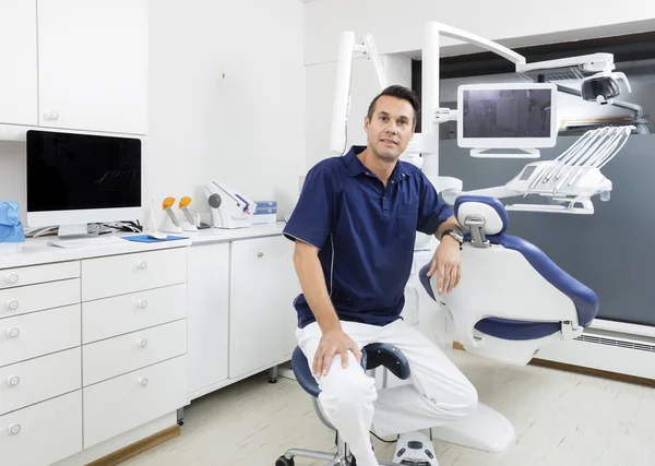
[[[186,357],[150,366],[84,391],[84,447],[187,404]]]

